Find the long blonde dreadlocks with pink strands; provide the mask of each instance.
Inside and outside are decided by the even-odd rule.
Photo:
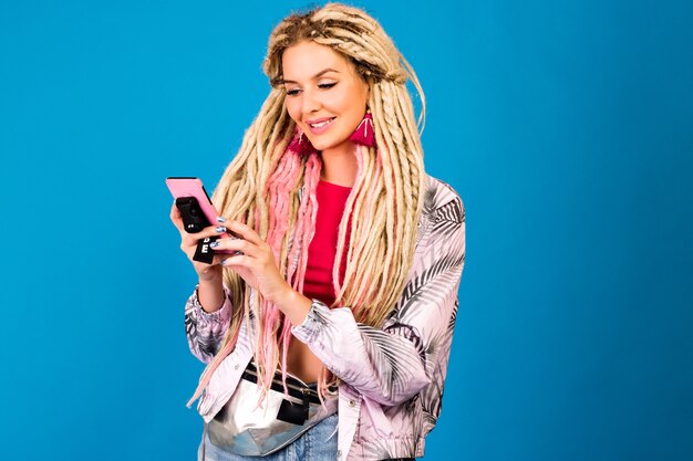
[[[272,90],[224,172],[213,201],[223,216],[245,222],[270,244],[280,273],[302,292],[322,161],[318,154],[306,157],[288,149],[298,127],[285,107],[286,92],[281,86],[282,54],[302,41],[341,53],[370,87],[368,106],[373,115],[376,147],[355,148],[358,174],[339,227],[333,268],[337,298],[331,307],[349,306],[356,322],[380,327],[401,296],[413,265],[425,191],[417,130],[421,126],[423,133],[425,98],[414,70],[373,18],[356,8],[328,3],[307,13],[293,13],[275,28],[263,63]],[[407,78],[422,102],[416,124],[405,85]],[[351,232],[346,235],[350,216]],[[344,280],[340,283],[344,247],[349,250]],[[267,392],[281,354],[286,391],[286,360],[292,338],[289,318],[260,293],[246,290],[238,274],[230,269],[224,271],[234,306],[230,326],[219,352],[200,376],[188,407],[234,349],[244,318],[255,333],[255,359],[261,377],[258,386]],[[328,385],[338,381],[339,377],[323,366],[318,386],[321,400]]]

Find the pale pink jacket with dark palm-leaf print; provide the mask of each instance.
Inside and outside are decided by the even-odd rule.
[[[426,185],[414,265],[382,328],[356,323],[349,307],[330,310],[318,300],[292,328],[342,379],[339,461],[422,457],[425,437],[441,413],[465,261],[465,209],[447,184],[427,175]],[[206,313],[196,292],[185,306],[186,334],[193,354],[208,364],[221,345],[232,306],[227,292],[224,306]],[[234,394],[252,358],[252,344],[244,321],[236,348],[198,401],[206,422]]]

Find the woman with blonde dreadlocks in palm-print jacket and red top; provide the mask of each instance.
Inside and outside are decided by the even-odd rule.
[[[465,222],[424,171],[416,75],[373,18],[339,3],[281,21],[265,72],[272,90],[213,196],[218,224],[187,234],[172,208],[199,276],[185,308],[208,364],[188,402],[201,395],[199,459],[422,457]],[[211,264],[193,260],[229,232]]]

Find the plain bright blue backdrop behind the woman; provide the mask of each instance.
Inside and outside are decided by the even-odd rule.
[[[467,258],[427,460],[693,457],[691,2],[362,1]],[[192,460],[166,176],[211,189],[307,3],[0,7],[6,460]]]

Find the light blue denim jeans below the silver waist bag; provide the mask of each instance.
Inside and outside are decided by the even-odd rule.
[[[288,447],[267,457],[232,454],[211,444],[205,437],[197,450],[198,461],[334,461],[337,459],[338,413],[330,415]],[[203,458],[203,444],[205,457]]]

